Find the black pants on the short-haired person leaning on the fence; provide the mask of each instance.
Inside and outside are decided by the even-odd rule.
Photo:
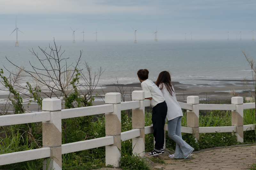
[[[155,137],[155,148],[160,150],[164,147],[164,125],[165,118],[167,115],[167,105],[166,102],[158,103],[152,110],[152,122],[154,129],[154,137]]]

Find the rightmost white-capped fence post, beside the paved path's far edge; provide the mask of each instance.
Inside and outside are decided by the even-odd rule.
[[[231,110],[231,123],[236,126],[237,142],[244,142],[244,99],[243,97],[232,97],[231,104],[236,105],[236,110]]]

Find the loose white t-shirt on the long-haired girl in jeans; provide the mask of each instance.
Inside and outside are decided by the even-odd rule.
[[[172,92],[173,96],[171,96],[170,93],[165,88],[165,84],[164,83],[160,84],[159,88],[161,87],[161,85],[163,85],[163,89],[161,91],[163,92],[164,99],[167,104],[167,116],[166,117],[167,117],[168,121],[170,121],[176,117],[183,116],[181,107],[176,99],[175,92]],[[174,91],[173,86],[172,86],[172,89]]]

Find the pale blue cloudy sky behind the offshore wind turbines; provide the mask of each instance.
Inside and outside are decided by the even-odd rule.
[[[75,40],[83,30],[84,40],[96,30],[98,41],[134,40],[132,27],[137,40],[154,40],[156,29],[158,40],[235,39],[239,31],[252,39],[255,9],[255,0],[0,0],[0,41],[16,41],[16,17],[18,41],[72,40],[71,28]]]

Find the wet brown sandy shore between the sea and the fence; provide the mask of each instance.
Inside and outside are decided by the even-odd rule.
[[[186,102],[187,96],[199,96],[199,100],[223,100],[231,99],[230,92],[235,90],[239,96],[247,97],[249,94],[244,91],[253,89],[253,82],[250,82],[248,86],[244,86],[240,80],[186,80],[180,82],[172,82],[176,92],[176,98],[178,101]],[[131,101],[131,93],[133,90],[142,90],[140,82],[132,84],[120,85],[123,87],[125,93],[125,101]],[[114,85],[99,85],[94,90],[93,94],[99,94],[94,101],[94,105],[104,104],[104,94],[108,92],[120,92],[120,90]],[[102,99],[101,99],[101,97]],[[0,95],[0,102],[3,102],[8,95]],[[2,101],[1,101],[2,100]],[[2,105],[2,104],[0,104]],[[26,107],[26,104],[24,105]],[[30,105],[30,111],[37,111],[38,105]]]

